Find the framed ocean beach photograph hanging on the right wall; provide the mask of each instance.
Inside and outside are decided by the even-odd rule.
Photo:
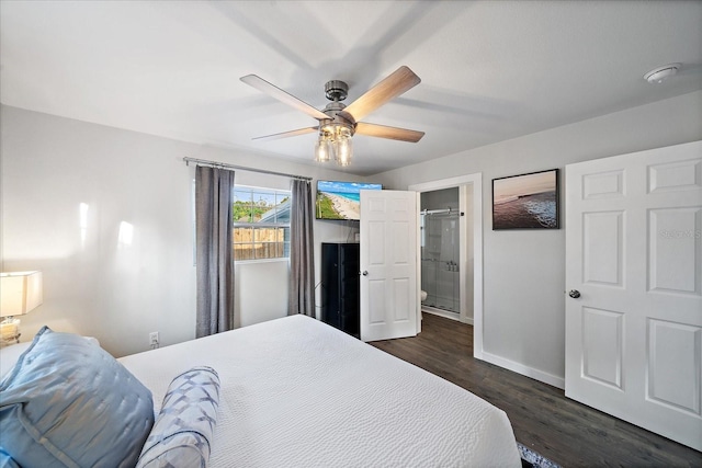
[[[492,179],[492,230],[558,227],[557,169]]]

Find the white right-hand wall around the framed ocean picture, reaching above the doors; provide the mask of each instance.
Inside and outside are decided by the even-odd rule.
[[[378,174],[387,189],[483,173],[484,356],[562,385],[565,229],[492,231],[491,180],[702,139],[702,92]],[[562,220],[564,201],[562,189]]]

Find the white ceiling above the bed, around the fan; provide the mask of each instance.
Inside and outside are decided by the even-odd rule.
[[[1,1],[3,104],[312,162],[316,125],[242,83],[254,73],[322,109],[401,65],[422,80],[363,122],[369,175],[702,89],[702,1]],[[643,79],[681,62],[669,81]]]

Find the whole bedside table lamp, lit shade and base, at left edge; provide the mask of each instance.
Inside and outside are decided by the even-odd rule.
[[[20,342],[20,320],[42,305],[42,272],[0,273],[0,345]]]

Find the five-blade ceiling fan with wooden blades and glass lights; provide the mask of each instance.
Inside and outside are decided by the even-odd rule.
[[[355,134],[410,142],[417,142],[424,136],[423,132],[359,122],[386,102],[419,84],[419,77],[406,66],[399,67],[349,105],[341,102],[348,95],[349,85],[340,80],[328,81],[325,84],[325,94],[331,102],[322,111],[256,75],[241,77],[241,81],[319,121],[319,125],[314,127],[253,139],[278,139],[319,132],[319,139],[315,146],[317,161],[328,161],[333,157],[339,165],[349,165],[353,152],[351,137]]]

